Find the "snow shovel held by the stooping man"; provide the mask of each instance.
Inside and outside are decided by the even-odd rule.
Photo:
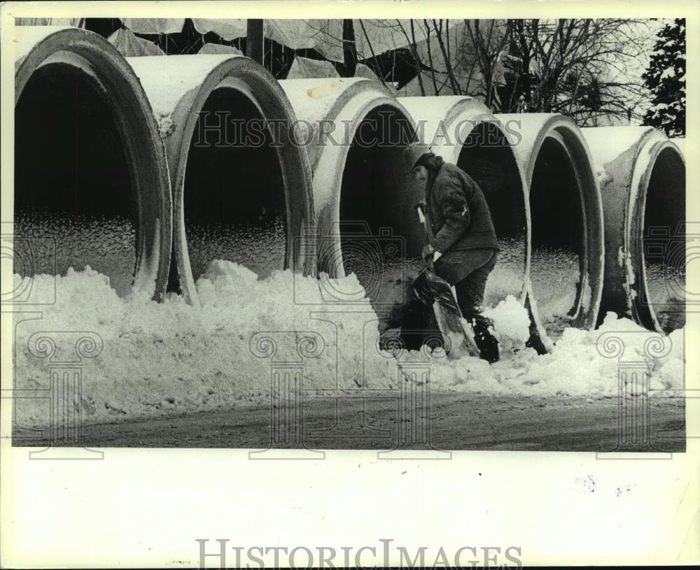
[[[432,241],[431,234],[433,230],[430,228],[430,224],[426,222],[423,208],[419,204],[416,204],[416,211],[418,211],[419,220],[426,228],[428,238]],[[435,312],[437,327],[447,341],[445,343],[445,352],[452,358],[458,358],[463,355],[479,357],[479,349],[474,341],[474,331],[462,316],[462,311],[457,304],[454,287],[435,273],[435,265],[433,263],[435,256],[440,257],[440,253],[436,252],[432,259],[426,261],[426,281],[435,301],[433,303],[433,311]]]

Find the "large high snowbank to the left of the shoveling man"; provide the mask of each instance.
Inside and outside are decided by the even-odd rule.
[[[120,298],[109,279],[89,267],[31,281],[35,299],[50,299],[55,287],[56,303],[42,307],[40,320],[16,327],[15,387],[48,387],[48,360],[29,352],[34,332],[52,332],[47,335],[66,359],[76,341],[67,332],[97,333],[104,350],[83,360],[83,419],[88,421],[235,402],[267,403],[271,362],[298,359],[297,343],[314,332],[323,352],[304,359],[305,388],[356,388],[363,381],[358,363],[367,378],[395,383],[393,358],[373,345],[367,348],[376,339],[365,329],[377,327],[369,301],[360,297],[351,306],[325,303],[316,279],[290,271],[258,280],[238,264],[212,262],[196,283],[200,308],[174,294],[162,304]],[[361,289],[354,276],[343,281],[338,290]],[[27,278],[16,275],[15,284],[20,283],[26,287]],[[265,341],[258,355],[253,354],[251,336],[258,332],[269,332],[262,336],[276,343],[275,355],[265,357]],[[46,400],[28,399],[18,408],[22,419],[41,422],[48,417],[47,406]]]

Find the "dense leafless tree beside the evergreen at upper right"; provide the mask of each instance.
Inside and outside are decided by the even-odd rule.
[[[517,91],[531,111],[563,113],[582,125],[638,118],[646,90],[638,73],[648,31],[639,20],[511,20]],[[511,98],[512,99],[512,98]]]

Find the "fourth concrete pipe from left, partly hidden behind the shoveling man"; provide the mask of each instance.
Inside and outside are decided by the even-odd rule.
[[[471,97],[400,97],[412,114],[421,142],[456,164],[484,192],[496,227],[500,253],[489,276],[484,304],[508,295],[526,304],[531,317],[528,342],[538,352],[549,348],[526,295],[530,259],[530,209],[525,173],[511,144],[507,124]]]

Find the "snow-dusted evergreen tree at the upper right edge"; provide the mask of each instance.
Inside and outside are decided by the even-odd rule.
[[[657,34],[649,67],[642,78],[652,92],[643,124],[685,136],[685,18],[676,18]]]

